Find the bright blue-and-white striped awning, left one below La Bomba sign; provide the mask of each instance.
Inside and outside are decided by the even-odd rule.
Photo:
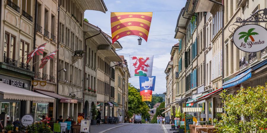
[[[251,70],[252,69],[248,69],[247,71],[237,75],[236,77],[233,77],[230,80],[227,80],[226,82],[222,84],[223,88],[225,89],[228,87],[233,87],[248,80],[249,78],[251,78]]]

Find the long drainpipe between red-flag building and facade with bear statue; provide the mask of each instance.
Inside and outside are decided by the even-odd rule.
[[[37,0],[36,0],[37,1]],[[59,8],[60,5],[58,4],[58,41],[57,41],[57,46],[59,48]],[[59,69],[59,58],[58,58],[59,51],[57,52],[57,94],[58,94],[58,69]],[[56,118],[58,118],[58,99],[56,100]]]

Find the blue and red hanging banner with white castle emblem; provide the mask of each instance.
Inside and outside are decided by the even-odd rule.
[[[154,91],[155,89],[155,81],[156,81],[156,76],[152,77],[139,77],[139,83],[140,83],[140,91],[142,90],[152,90]]]

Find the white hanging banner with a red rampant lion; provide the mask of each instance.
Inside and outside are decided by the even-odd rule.
[[[134,76],[152,76],[154,56],[130,56],[130,74]]]

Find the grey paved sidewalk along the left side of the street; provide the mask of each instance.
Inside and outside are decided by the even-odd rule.
[[[90,129],[90,133],[100,133],[100,132],[104,132],[107,129],[113,129],[116,128],[118,126],[125,126],[128,125],[129,123],[119,123],[119,124],[100,124],[100,125],[90,125],[91,129]]]

